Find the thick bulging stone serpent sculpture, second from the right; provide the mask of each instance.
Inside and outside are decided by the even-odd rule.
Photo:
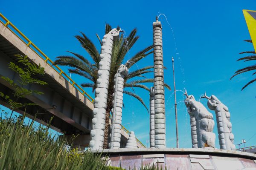
[[[193,95],[187,95],[185,105],[190,116],[195,117],[198,148],[215,147],[215,134],[212,133],[214,127],[213,115],[196,101]]]

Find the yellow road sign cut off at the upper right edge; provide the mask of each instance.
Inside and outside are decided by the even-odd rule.
[[[243,13],[251,39],[253,41],[254,49],[256,50],[256,11],[244,9]]]

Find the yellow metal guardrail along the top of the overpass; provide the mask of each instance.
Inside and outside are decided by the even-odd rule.
[[[4,17],[3,14],[0,13],[0,17],[4,21],[6,21],[6,23],[4,23],[3,21],[0,20],[0,23],[3,23],[3,25],[6,28],[8,28],[13,34],[15,34],[21,41],[23,41],[23,43],[25,43],[26,46],[28,46],[36,54],[38,54],[44,60],[44,62],[46,62],[49,66],[51,66],[56,72],[59,73],[59,75],[61,75],[61,77],[65,78],[73,87],[75,87],[87,99],[89,99],[89,101],[91,101],[93,103],[94,99],[92,97],[90,97],[90,95],[88,95],[87,92],[85,92],[84,89],[81,88],[81,86],[76,84],[76,82],[73,81],[64,71],[62,71],[62,69],[59,66],[53,65],[54,62],[49,57],[47,57],[47,55],[45,55],[44,52],[42,52],[34,43],[32,43],[31,40],[29,40],[29,38],[27,38],[22,32],[20,32],[20,30],[17,29],[17,27],[14,26],[6,17]],[[25,40],[23,40],[18,34],[16,34],[9,26],[11,26],[12,29],[14,29],[27,42],[25,42]],[[34,47],[38,52],[36,52],[35,49],[33,49],[32,47]]]

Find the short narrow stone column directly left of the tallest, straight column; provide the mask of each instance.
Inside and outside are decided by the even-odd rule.
[[[150,93],[149,93],[149,103],[150,103],[150,131],[149,131],[149,136],[150,136],[150,147],[155,147],[154,143],[154,87],[150,88]]]

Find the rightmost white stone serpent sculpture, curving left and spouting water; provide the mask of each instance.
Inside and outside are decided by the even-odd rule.
[[[232,124],[230,122],[230,112],[227,106],[221,103],[215,95],[208,97],[206,93],[202,98],[207,98],[209,109],[214,110],[217,119],[218,138],[220,149],[236,150],[234,143],[234,135],[232,133]]]

